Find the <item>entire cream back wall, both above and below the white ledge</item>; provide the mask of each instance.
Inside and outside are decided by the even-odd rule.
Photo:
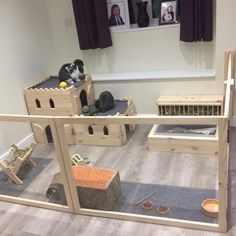
[[[57,42],[58,68],[75,58],[84,60],[89,73],[116,73],[157,70],[191,70],[215,67],[215,40],[184,43],[179,40],[179,25],[112,33],[113,46],[106,49],[79,50],[70,0],[47,0],[54,40]],[[66,26],[70,19],[72,24]],[[55,71],[57,68],[55,68]],[[138,113],[155,113],[161,94],[217,94],[219,81],[167,80],[155,82],[94,83],[98,96],[110,90],[116,98],[131,96]]]

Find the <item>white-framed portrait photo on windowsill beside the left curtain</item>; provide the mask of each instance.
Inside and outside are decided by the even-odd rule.
[[[130,27],[127,0],[107,0],[107,10],[112,31]]]

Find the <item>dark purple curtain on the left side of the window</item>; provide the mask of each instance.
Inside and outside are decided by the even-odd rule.
[[[106,0],[72,0],[80,49],[112,46]]]

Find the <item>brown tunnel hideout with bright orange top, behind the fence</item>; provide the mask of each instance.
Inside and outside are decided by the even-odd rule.
[[[119,172],[107,168],[72,166],[73,178],[81,207],[112,210],[121,196]],[[61,174],[57,173],[46,196],[56,203],[66,204]]]

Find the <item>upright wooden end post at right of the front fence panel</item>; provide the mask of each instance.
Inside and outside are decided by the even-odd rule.
[[[219,178],[219,217],[218,223],[221,232],[227,231],[227,198],[228,198],[228,119],[219,119],[219,156],[218,156],[218,178]]]

